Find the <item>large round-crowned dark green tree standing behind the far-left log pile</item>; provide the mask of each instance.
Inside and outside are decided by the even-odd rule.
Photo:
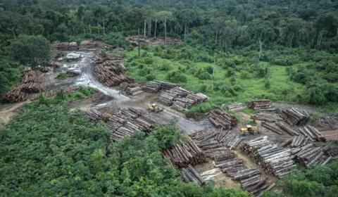
[[[42,36],[23,34],[11,43],[10,54],[15,61],[30,66],[32,70],[35,70],[35,75],[37,75],[37,68],[48,65],[51,60],[51,44]],[[38,75],[37,80],[39,92],[41,93]]]

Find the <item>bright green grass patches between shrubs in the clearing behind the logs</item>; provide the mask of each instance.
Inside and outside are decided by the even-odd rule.
[[[145,51],[142,50],[141,54],[144,52]],[[287,75],[287,72],[285,72],[286,67],[270,65],[270,89],[265,88],[265,79],[257,78],[253,76],[252,73],[250,73],[251,76],[248,79],[242,79],[240,77],[240,72],[236,72],[236,83],[241,84],[244,87],[244,91],[237,92],[237,96],[225,96],[225,94],[221,93],[220,91],[211,91],[212,80],[199,80],[199,78],[189,73],[188,70],[182,71],[182,68],[186,68],[186,66],[179,61],[172,61],[158,56],[153,56],[154,53],[151,53],[149,51],[147,51],[147,53],[149,57],[151,57],[154,61],[154,63],[148,66],[151,67],[151,70],[154,70],[153,73],[156,76],[156,80],[168,81],[166,79],[168,72],[176,70],[187,77],[187,82],[180,84],[183,88],[199,92],[201,85],[205,84],[207,86],[207,90],[204,92],[204,94],[210,96],[210,99],[208,99],[208,101],[202,103],[199,106],[195,106],[190,110],[190,112],[206,112],[213,108],[217,108],[218,105],[223,103],[246,103],[249,100],[258,98],[266,98],[272,101],[292,103],[296,101],[297,94],[303,94],[303,92],[306,90],[306,87],[302,84],[291,82],[289,80],[289,76]],[[124,56],[127,60],[137,62],[137,50],[128,51],[124,53]],[[168,63],[170,65],[169,71],[156,70],[156,66],[164,63]],[[260,64],[268,65],[268,63],[265,62],[261,62]],[[194,68],[198,69],[206,68],[207,66],[213,66],[213,63],[199,62],[193,63],[193,65]],[[298,66],[299,65],[294,65],[293,68],[296,69]],[[181,68],[181,70],[179,70],[179,68]],[[137,66],[129,66],[127,75],[134,77],[136,80],[146,82],[146,77],[139,75],[139,70],[140,68],[138,68]],[[227,70],[223,69],[220,65],[215,65],[215,82],[220,82],[221,84],[229,83],[230,77],[226,77],[226,74]]]

